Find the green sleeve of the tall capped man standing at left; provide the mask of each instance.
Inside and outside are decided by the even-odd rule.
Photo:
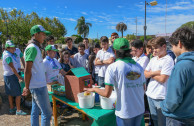
[[[34,61],[37,55],[35,47],[30,47],[25,51],[25,61]]]

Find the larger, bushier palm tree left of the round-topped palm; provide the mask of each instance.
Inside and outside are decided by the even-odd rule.
[[[85,22],[85,18],[81,16],[77,20],[75,30],[77,29],[77,34],[82,35],[82,37],[85,38],[89,34],[89,27],[92,27],[92,24]]]

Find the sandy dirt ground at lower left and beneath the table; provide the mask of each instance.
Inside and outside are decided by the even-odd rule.
[[[2,101],[2,103],[1,103]],[[0,126],[30,126],[30,108],[21,106],[21,109],[27,112],[26,116],[18,116],[9,114],[8,97],[4,90],[3,67],[2,60],[0,60]],[[62,112],[61,112],[62,113]],[[59,116],[60,126],[90,126],[92,120],[82,121],[82,115],[77,111],[67,111]],[[41,117],[39,117],[39,122]],[[51,120],[52,124],[52,120]]]

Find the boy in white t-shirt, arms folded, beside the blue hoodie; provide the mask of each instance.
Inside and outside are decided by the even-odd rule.
[[[146,95],[154,126],[165,126],[166,118],[161,112],[160,103],[165,99],[174,61],[166,52],[166,40],[163,37],[155,38],[151,44],[155,57],[150,60],[144,72],[146,78],[151,78]]]

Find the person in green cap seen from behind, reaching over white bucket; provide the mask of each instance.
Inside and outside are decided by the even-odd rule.
[[[84,88],[110,97],[113,86],[117,94],[116,122],[118,126],[140,126],[144,113],[145,76],[142,67],[130,55],[129,42],[117,38],[113,43],[116,62],[110,64],[105,74],[105,89]]]

